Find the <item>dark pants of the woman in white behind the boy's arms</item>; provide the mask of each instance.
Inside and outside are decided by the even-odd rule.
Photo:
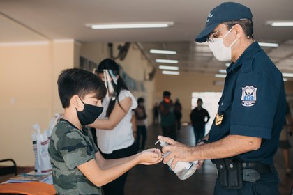
[[[133,145],[129,146],[128,148],[123,148],[121,150],[114,150],[111,154],[104,154],[101,153],[101,155],[105,159],[117,159],[117,158],[123,158],[123,157],[129,157],[131,155],[135,155],[137,153],[137,149],[135,146],[135,143]],[[106,185],[102,186],[103,192],[105,195],[123,195],[124,194],[124,185],[126,183],[126,178],[128,176],[128,171],[124,173],[122,176],[117,178],[116,180],[113,180],[110,183],[107,183]]]

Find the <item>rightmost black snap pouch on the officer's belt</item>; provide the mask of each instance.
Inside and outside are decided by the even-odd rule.
[[[224,159],[228,173],[228,185],[224,189],[241,189],[243,186],[242,163],[232,159]]]

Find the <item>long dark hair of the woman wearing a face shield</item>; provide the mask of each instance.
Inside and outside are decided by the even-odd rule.
[[[113,74],[115,76],[117,76],[117,75],[119,75],[120,68],[119,68],[119,65],[114,60],[104,59],[103,61],[101,61],[99,63],[98,68],[96,69],[96,72],[103,73],[104,70],[112,70]],[[113,85],[113,86],[115,87],[115,85]],[[123,81],[123,79],[119,75],[119,77],[117,79],[117,88],[114,89],[116,91],[116,99],[119,104],[119,107],[121,107],[121,104],[119,102],[119,93],[123,89],[128,90],[125,82]],[[106,112],[106,116],[110,116],[110,114],[112,113],[112,110],[114,109],[114,105],[116,104],[116,99],[110,101],[107,112]],[[123,107],[121,107],[121,109],[123,109]],[[125,111],[125,110],[123,109],[123,111]]]

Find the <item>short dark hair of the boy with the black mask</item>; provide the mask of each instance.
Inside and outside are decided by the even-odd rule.
[[[95,74],[80,68],[63,70],[58,77],[58,93],[63,108],[70,105],[73,95],[84,98],[85,95],[96,93],[98,100],[103,100],[107,89],[103,81]]]

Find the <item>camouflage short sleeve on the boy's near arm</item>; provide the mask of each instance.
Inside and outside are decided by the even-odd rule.
[[[69,170],[94,159],[87,146],[87,141],[78,132],[63,134],[57,143],[57,148]]]

